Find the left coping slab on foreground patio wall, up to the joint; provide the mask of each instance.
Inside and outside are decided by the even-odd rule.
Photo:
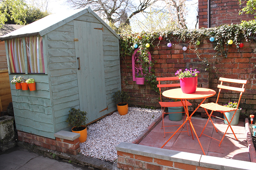
[[[143,146],[139,144],[124,143],[118,144],[115,149],[117,151],[126,152],[130,154],[142,155],[167,161],[184,163],[189,165],[199,166],[199,161],[202,155],[192,154],[188,152],[179,152],[174,150],[167,150],[161,148],[154,148],[150,146]]]

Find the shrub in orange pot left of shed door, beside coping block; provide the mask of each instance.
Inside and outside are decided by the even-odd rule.
[[[87,139],[87,128],[86,128],[86,121],[87,113],[81,111],[80,109],[71,108],[69,111],[69,117],[67,118],[67,122],[70,126],[72,126],[72,132],[80,133],[79,141],[83,143]]]

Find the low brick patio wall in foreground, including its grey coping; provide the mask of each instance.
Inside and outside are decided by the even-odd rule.
[[[124,170],[252,170],[256,163],[179,152],[132,143],[116,146],[117,167]]]

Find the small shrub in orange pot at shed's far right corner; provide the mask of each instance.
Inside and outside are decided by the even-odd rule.
[[[120,115],[126,115],[128,113],[128,101],[130,96],[126,91],[118,90],[113,95],[115,103],[117,104],[117,111]]]

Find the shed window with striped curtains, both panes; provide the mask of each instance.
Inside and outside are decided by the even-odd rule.
[[[7,43],[11,73],[45,73],[42,37],[14,38]]]

